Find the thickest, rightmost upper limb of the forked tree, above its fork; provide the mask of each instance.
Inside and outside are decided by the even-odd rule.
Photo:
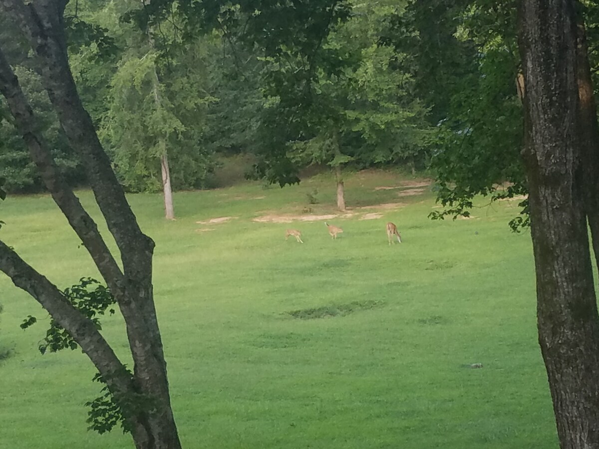
[[[127,277],[145,280],[152,273],[154,242],[141,232],[96,135],[93,122],[81,104],[69,69],[66,40],[60,22],[59,2],[0,0],[0,11],[13,17],[31,41],[41,68],[44,87],[71,146],[78,151],[96,202],[114,236]]]

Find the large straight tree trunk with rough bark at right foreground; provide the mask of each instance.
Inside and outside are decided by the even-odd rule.
[[[573,0],[522,0],[523,156],[537,275],[537,324],[559,441],[599,448],[599,317],[586,226]],[[595,174],[597,176],[597,174]]]

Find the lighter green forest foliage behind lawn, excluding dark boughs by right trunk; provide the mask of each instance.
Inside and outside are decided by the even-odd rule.
[[[81,98],[121,183],[153,191],[167,153],[174,189],[207,186],[214,156],[238,152],[281,184],[313,163],[423,167],[432,105],[417,95],[410,52],[385,41],[405,13],[391,1],[88,0],[67,6],[66,23]],[[83,183],[34,69],[14,63],[60,168]],[[2,117],[7,189],[40,190]]]

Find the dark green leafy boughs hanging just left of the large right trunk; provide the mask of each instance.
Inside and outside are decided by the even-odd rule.
[[[432,219],[467,216],[477,195],[497,201],[527,194],[516,9],[514,0],[415,0],[394,22],[413,45],[417,91],[432,105],[437,129],[431,168],[444,209]],[[394,44],[407,51],[401,40]],[[527,202],[521,207],[513,229],[528,223]]]

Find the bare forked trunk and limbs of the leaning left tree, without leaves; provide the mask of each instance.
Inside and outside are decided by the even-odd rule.
[[[59,290],[0,242],[0,271],[16,286],[26,290],[75,338],[107,381],[117,401],[132,393],[150,404],[129,411],[136,447],[180,448],[177,427],[170,405],[166,362],[156,318],[152,290],[154,242],[141,232],[122,187],[110,167],[81,105],[69,69],[62,14],[66,0],[0,0],[0,13],[18,23],[29,38],[38,69],[50,101],[71,146],[86,168],[96,202],[114,236],[123,269],[107,249],[102,236],[80,202],[59,177],[50,151],[37,133],[31,107],[17,78],[0,50],[0,91],[7,98],[17,129],[28,144],[53,199],[77,232],[110,287],[125,318],[129,347],[134,360],[134,378],[126,376],[122,363],[111,348],[77,310],[69,308]]]

